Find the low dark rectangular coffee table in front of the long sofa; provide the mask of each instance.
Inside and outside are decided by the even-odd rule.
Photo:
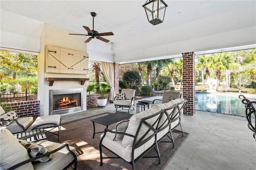
[[[108,113],[108,112],[106,112]],[[95,124],[94,123],[98,123],[100,125],[105,125],[106,128],[108,128],[108,125],[111,125],[113,123],[122,121],[124,119],[130,118],[132,117],[132,114],[129,113],[124,113],[124,112],[116,112],[116,113],[111,113],[110,115],[106,115],[103,117],[99,117],[96,119],[91,120],[92,124],[93,124],[93,136],[92,138],[94,138],[96,133],[102,133],[102,132],[95,132]]]

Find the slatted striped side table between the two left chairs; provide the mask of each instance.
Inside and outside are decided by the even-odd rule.
[[[38,140],[43,140],[43,139],[46,138],[46,135],[45,135],[44,130],[42,128],[38,128],[38,129],[35,129],[35,130],[30,130],[28,132],[16,133],[16,134],[13,134],[13,135],[16,138],[20,139],[20,138],[26,138],[27,136],[32,136],[33,134],[34,135],[36,134],[36,138]],[[34,136],[26,138],[25,140],[28,141],[28,142],[37,141]]]

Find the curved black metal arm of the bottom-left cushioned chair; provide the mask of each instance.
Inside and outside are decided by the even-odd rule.
[[[22,165],[24,165],[24,164],[27,164],[28,162],[32,162],[32,161],[34,161],[34,160],[36,160],[36,159],[38,159],[38,158],[42,158],[42,157],[44,157],[44,156],[48,156],[48,155],[50,155],[50,154],[52,154],[52,153],[54,153],[54,152],[57,152],[57,151],[61,150],[61,149],[64,148],[64,147],[66,147],[67,150],[74,156],[74,163],[77,162],[76,154],[74,154],[74,152],[72,152],[72,151],[70,150],[70,148],[68,147],[68,144],[64,144],[64,145],[60,146],[59,148],[57,148],[57,149],[55,149],[55,150],[52,150],[51,152],[48,152],[48,153],[46,153],[46,154],[42,154],[42,155],[36,156],[36,157],[34,157],[34,158],[30,158],[30,159],[28,159],[28,160],[25,160],[25,161],[23,161],[23,162],[20,162],[20,163],[18,163],[18,164],[16,164],[16,165],[10,167],[8,170],[14,170],[14,169],[16,169],[16,168],[18,168],[18,167],[20,167],[20,166],[22,166]]]

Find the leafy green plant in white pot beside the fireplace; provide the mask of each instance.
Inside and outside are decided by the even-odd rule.
[[[98,90],[96,90],[96,93],[100,94],[97,99],[98,107],[105,107],[107,104],[107,97],[105,95],[108,93],[110,86],[105,83],[99,83],[96,84],[96,87],[100,87]]]

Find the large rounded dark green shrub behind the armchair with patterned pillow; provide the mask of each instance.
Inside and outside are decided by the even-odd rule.
[[[135,94],[138,94],[140,87],[140,74],[138,71],[126,71],[123,75],[128,89],[135,89]]]

